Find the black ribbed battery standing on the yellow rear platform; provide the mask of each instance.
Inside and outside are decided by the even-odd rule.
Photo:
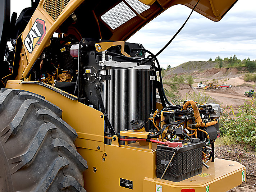
[[[174,152],[175,155],[166,170],[163,179],[179,182],[202,173],[204,142],[184,143],[176,149],[165,145],[158,145],[156,148],[156,176],[161,178],[169,164]]]

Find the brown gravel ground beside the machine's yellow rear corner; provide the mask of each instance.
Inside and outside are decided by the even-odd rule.
[[[256,192],[256,152],[244,145],[217,145],[215,146],[215,157],[219,159],[227,159],[237,161],[246,166],[246,182],[235,187],[228,192]]]

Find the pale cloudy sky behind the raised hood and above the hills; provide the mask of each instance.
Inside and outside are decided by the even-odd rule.
[[[18,14],[31,0],[11,0]],[[127,42],[141,43],[156,54],[187,19],[191,9],[175,5],[148,23]],[[161,67],[187,61],[230,57],[256,59],[256,0],[238,0],[219,22],[193,12],[185,27],[159,56]]]

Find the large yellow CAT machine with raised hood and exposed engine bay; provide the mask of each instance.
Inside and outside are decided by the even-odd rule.
[[[242,164],[214,157],[219,104],[172,105],[156,56],[125,42],[173,5],[219,21],[236,2],[32,0],[10,19],[2,0],[1,191],[224,192],[246,181]]]

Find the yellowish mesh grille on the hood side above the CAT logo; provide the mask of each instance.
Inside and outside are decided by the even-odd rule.
[[[70,0],[45,0],[43,8],[56,20]]]

